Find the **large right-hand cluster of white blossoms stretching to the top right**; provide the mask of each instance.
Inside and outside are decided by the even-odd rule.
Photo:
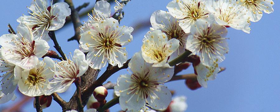
[[[161,85],[173,77],[170,63],[191,52],[184,58],[193,63],[194,82],[207,87],[229,52],[226,28],[250,33],[250,21],[259,21],[262,11],[273,12],[273,4],[271,0],[173,0],[166,6],[169,12],[155,11],[141,51],[128,63],[131,75],[120,75],[114,87],[122,110],[180,111],[170,110],[178,105],[167,108],[171,94]]]

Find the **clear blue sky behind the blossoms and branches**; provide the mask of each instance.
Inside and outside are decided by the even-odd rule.
[[[124,7],[124,19],[120,26],[134,26],[138,22],[150,19],[152,12],[166,9],[171,0],[132,0]],[[27,14],[26,6],[30,6],[31,0],[7,0],[0,4],[0,35],[7,34],[7,25],[10,23],[14,29],[18,23],[16,19],[22,14]],[[77,7],[84,2],[91,2],[92,7],[95,0],[73,0]],[[218,74],[217,79],[208,82],[208,88],[200,88],[195,91],[189,90],[184,81],[168,82],[165,85],[170,90],[175,90],[175,96],[187,96],[189,112],[276,112],[280,109],[280,13],[279,2],[274,0],[274,12],[264,13],[259,22],[252,23],[251,33],[246,34],[241,30],[228,28],[227,40],[230,51],[226,54],[226,60],[220,64],[226,67],[226,71]],[[114,10],[113,8],[111,9]],[[84,10],[82,10],[84,11]],[[87,17],[81,18],[86,21]],[[149,30],[148,27],[139,30],[133,35],[133,41],[125,46],[128,58],[138,52],[142,45],[142,39]],[[64,53],[68,54],[78,48],[76,41],[67,42],[74,35],[73,25],[68,24],[61,30],[56,31],[58,43]],[[69,46],[71,45],[71,46]],[[49,41],[50,49],[55,50],[52,41]],[[105,68],[101,69],[101,73]],[[193,73],[193,68],[180,72],[179,74]],[[128,74],[121,70],[107,81],[116,82],[121,74]],[[68,101],[75,91],[74,84],[65,93],[59,94]],[[113,96],[109,90],[107,100]],[[17,98],[16,101],[20,99]],[[0,105],[0,108],[9,107],[15,102]],[[35,111],[33,102],[24,106],[23,111]],[[44,109],[44,112],[60,111],[61,107],[55,102]],[[111,108],[111,112],[120,110],[119,105]]]

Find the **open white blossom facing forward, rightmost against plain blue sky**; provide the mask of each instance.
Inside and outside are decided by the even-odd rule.
[[[210,67],[214,62],[225,60],[224,54],[229,51],[226,34],[225,26],[198,20],[191,28],[185,48],[198,55],[203,65]]]

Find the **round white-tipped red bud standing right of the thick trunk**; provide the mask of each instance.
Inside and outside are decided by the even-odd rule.
[[[93,91],[93,96],[96,98],[96,100],[98,102],[104,101],[107,94],[108,94],[108,91],[104,86],[98,86]]]

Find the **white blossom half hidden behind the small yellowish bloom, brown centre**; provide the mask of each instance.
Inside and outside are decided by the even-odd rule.
[[[180,41],[178,49],[170,55],[169,60],[173,60],[180,54],[185,52],[184,46],[187,41],[188,34],[179,26],[179,20],[171,16],[170,12],[158,10],[151,16],[151,24],[153,29],[161,30],[167,35],[167,40],[177,39]]]

